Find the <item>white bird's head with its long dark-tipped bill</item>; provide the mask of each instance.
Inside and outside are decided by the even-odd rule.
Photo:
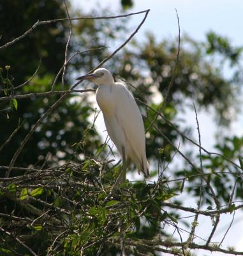
[[[110,71],[106,68],[98,68],[94,71],[94,73],[80,76],[77,79],[89,80],[98,85],[110,85],[114,83],[112,74],[110,74]]]

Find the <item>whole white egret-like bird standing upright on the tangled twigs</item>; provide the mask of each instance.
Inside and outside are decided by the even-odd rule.
[[[144,122],[133,95],[123,84],[115,83],[106,68],[98,68],[94,73],[78,79],[87,79],[98,85],[96,101],[103,113],[108,135],[122,157],[125,168],[122,180],[126,180],[126,168],[130,161],[135,163],[138,174],[143,172],[148,177]]]

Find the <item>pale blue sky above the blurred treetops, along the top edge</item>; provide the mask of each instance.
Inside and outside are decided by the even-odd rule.
[[[80,0],[73,0],[80,6]],[[82,1],[82,9],[90,10],[98,3],[96,0]],[[103,0],[102,7],[108,7],[115,13],[121,9],[120,0]],[[236,45],[243,44],[241,0],[135,0],[129,12],[151,9],[149,16],[136,35],[142,39],[145,31],[154,31],[158,38],[177,36],[175,8],[179,13],[182,33],[186,32],[197,40],[203,40],[209,30],[228,36]],[[133,20],[138,23],[141,15]]]

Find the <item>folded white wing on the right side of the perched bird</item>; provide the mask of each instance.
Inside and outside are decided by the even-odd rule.
[[[145,175],[149,175],[142,115],[135,99],[126,87],[120,83],[115,84],[114,98],[115,105],[117,106],[115,109],[117,120],[129,141],[129,145],[133,148],[133,151],[139,159],[140,166],[137,166],[138,172],[140,173],[141,170]]]

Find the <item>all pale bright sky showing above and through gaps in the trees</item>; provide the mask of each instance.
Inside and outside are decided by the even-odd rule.
[[[121,13],[121,0],[103,0],[102,8],[108,8],[115,14]],[[80,1],[73,0],[73,6],[80,8]],[[89,0],[82,1],[83,10],[91,10],[98,1]],[[177,17],[175,8],[179,14],[181,35],[187,34],[195,40],[205,40],[205,34],[209,31],[214,31],[222,36],[230,38],[235,46],[243,45],[243,1],[242,0],[135,0],[134,6],[129,12],[139,12],[142,10],[151,9],[147,20],[142,28],[136,34],[136,40],[145,40],[145,32],[152,31],[158,40],[163,38],[175,38],[178,35]],[[143,19],[142,15],[134,16],[129,26],[133,31]],[[196,136],[196,123],[193,111],[188,110],[188,124],[192,125],[194,130],[194,138]],[[200,122],[200,130],[202,135],[203,147],[211,150],[214,144],[214,134],[217,132],[217,126],[214,125],[213,116],[210,113],[198,113]],[[105,130],[103,118],[98,118],[98,125],[101,126],[101,131]],[[243,135],[243,116],[242,113],[230,127],[231,134]],[[185,205],[192,204],[191,200],[185,198]],[[230,225],[232,216],[222,216],[221,226],[216,232],[216,241],[220,241],[224,231]],[[202,225],[198,227],[198,234],[205,237],[206,230],[211,228],[210,221],[207,218],[201,220]],[[226,236],[223,246],[233,245],[237,250],[243,251],[243,214],[237,212],[235,216],[235,224],[232,226]],[[205,228],[207,227],[207,228]],[[209,253],[207,253],[209,254]],[[199,255],[199,254],[198,254]],[[201,255],[201,254],[200,254]],[[221,255],[220,253],[212,255]]]

